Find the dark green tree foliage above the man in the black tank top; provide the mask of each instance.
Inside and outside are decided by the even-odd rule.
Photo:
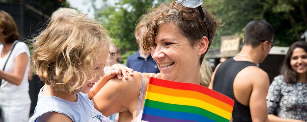
[[[243,38],[245,25],[255,19],[267,20],[274,26],[278,46],[302,40],[300,34],[307,30],[307,0],[208,0],[204,6],[224,23],[216,31],[213,47],[220,46],[223,35],[238,34]]]

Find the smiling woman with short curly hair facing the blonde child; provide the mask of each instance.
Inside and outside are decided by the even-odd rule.
[[[119,112],[121,122],[140,121],[139,113],[145,100],[143,92],[146,92],[151,76],[200,84],[200,64],[210,47],[219,21],[198,6],[188,8],[182,5],[182,1],[164,3],[142,16],[145,30],[139,41],[144,50],[151,50],[151,56],[161,73],[135,72],[127,80],[113,78],[103,87],[94,86],[93,89],[100,89],[92,98],[95,108],[105,116]]]

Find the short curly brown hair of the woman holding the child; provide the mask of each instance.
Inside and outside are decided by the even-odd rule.
[[[192,47],[194,47],[196,42],[203,36],[208,37],[207,29],[209,29],[209,49],[216,28],[220,25],[220,21],[217,20],[213,14],[209,14],[207,9],[204,9],[204,7],[202,8],[205,16],[204,20],[201,19],[197,8],[187,8],[181,3],[165,3],[159,5],[157,8],[150,9],[141,19],[141,21],[145,21],[146,28],[144,36],[141,38],[143,42],[142,48],[145,51],[150,51],[154,44],[155,35],[158,33],[158,27],[162,24],[172,22],[177,26],[179,32],[189,39]],[[206,28],[205,23],[207,23],[208,28]],[[207,51],[201,55],[200,65]]]

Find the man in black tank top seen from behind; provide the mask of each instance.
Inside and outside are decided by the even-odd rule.
[[[274,42],[274,28],[265,20],[248,23],[243,48],[233,58],[219,64],[209,88],[235,100],[233,122],[266,122],[266,95],[269,76],[256,64],[263,62]]]

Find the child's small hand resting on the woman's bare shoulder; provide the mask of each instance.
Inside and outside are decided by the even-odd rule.
[[[128,79],[128,73],[133,76],[132,69],[121,64],[114,64],[110,67],[106,75],[109,76],[110,79],[117,76],[119,80],[122,80],[122,75],[125,77],[125,79]]]

